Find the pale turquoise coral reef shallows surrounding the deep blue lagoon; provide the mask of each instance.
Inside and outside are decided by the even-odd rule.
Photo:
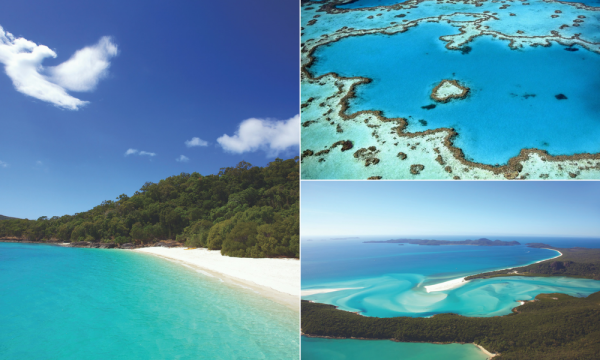
[[[341,39],[369,34],[403,33],[423,23],[449,24],[458,33],[439,40],[445,48],[468,54],[477,37],[504,40],[510,49],[549,47],[584,49],[600,54],[600,31],[594,27],[600,8],[553,0],[408,0],[390,6],[345,9],[353,2],[334,0],[302,3],[302,177],[361,179],[598,179],[600,153],[549,154],[539,148],[523,148],[506,164],[469,160],[455,145],[459,135],[451,127],[408,131],[406,118],[388,118],[377,109],[352,112],[350,101],[356,88],[371,83],[366,77],[343,77],[336,73],[314,76],[310,72],[314,52]],[[532,5],[543,4],[544,16],[526,16]],[[431,15],[432,7],[437,14]],[[519,18],[522,16],[522,18]],[[500,21],[501,20],[501,21]],[[339,24],[339,28],[336,27]],[[342,26],[343,25],[343,26]],[[574,47],[577,46],[577,47]],[[467,55],[468,56],[468,55]],[[435,92],[442,91],[438,99]],[[458,93],[458,89],[461,92]],[[464,98],[466,86],[445,80],[432,91],[436,101]],[[557,99],[566,100],[560,94]],[[534,96],[534,95],[531,95]],[[564,98],[563,98],[564,97]],[[433,109],[435,104],[423,109]],[[427,124],[420,120],[421,125]],[[370,146],[354,138],[370,134]],[[324,139],[336,138],[329,144]],[[335,149],[340,141],[352,144]],[[364,141],[361,141],[364,144]],[[344,150],[345,148],[345,150]],[[371,150],[374,149],[374,150]]]

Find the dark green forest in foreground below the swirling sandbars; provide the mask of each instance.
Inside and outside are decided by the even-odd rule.
[[[302,332],[404,342],[476,343],[498,360],[598,359],[600,292],[587,298],[542,294],[506,316],[375,318],[302,301]]]

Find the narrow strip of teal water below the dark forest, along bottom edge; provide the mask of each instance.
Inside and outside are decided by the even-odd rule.
[[[334,340],[302,337],[303,360],[483,360],[486,358],[486,355],[472,344],[439,345],[399,343],[389,340]]]

